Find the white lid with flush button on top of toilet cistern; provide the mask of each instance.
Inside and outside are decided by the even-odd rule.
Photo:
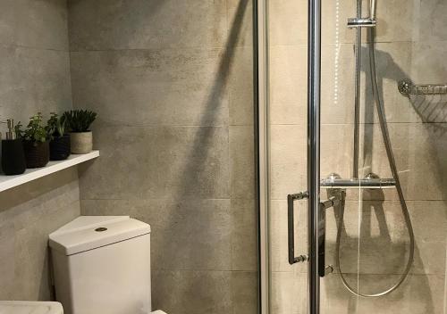
[[[150,233],[150,226],[129,216],[80,216],[49,236],[50,247],[65,255]]]

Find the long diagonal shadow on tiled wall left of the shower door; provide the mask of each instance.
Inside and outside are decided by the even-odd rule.
[[[203,172],[202,169],[204,165],[207,163],[207,159],[209,156],[213,153],[210,151],[210,148],[213,147],[213,139],[215,138],[215,128],[213,127],[203,127],[210,125],[209,121],[214,121],[216,119],[216,113],[219,112],[219,107],[222,105],[222,99],[224,98],[225,93],[227,92],[227,87],[229,83],[229,75],[230,70],[232,69],[233,59],[234,59],[234,49],[236,48],[236,45],[238,43],[238,40],[240,38],[240,33],[242,29],[242,21],[245,16],[245,12],[247,11],[247,7],[249,4],[249,0],[240,0],[237,11],[235,13],[234,21],[232,21],[232,25],[229,27],[229,33],[226,45],[224,46],[223,53],[220,56],[220,62],[218,65],[218,70],[216,77],[214,79],[214,83],[212,84],[212,88],[209,91],[207,95],[206,100],[206,106],[203,112],[204,114],[201,116],[201,120],[199,125],[202,126],[202,128],[198,129],[197,134],[194,137],[193,145],[190,147],[190,153],[188,154],[188,157],[186,158],[185,162],[185,168],[182,169],[179,173],[179,182],[178,190],[175,191],[173,194],[173,202],[175,203],[175,206],[172,206],[171,208],[173,210],[181,210],[181,207],[184,206],[182,203],[185,199],[188,198],[194,198],[197,195],[191,194],[191,183],[194,184],[195,182],[198,182],[200,180],[201,173]],[[229,184],[229,183],[228,183]],[[209,189],[207,192],[210,194],[213,194],[212,192],[215,189],[215,186],[207,186]],[[194,189],[192,189],[194,191]],[[229,195],[230,196],[230,195]],[[179,217],[181,220],[179,220]],[[191,224],[188,223],[186,220],[190,219],[196,219],[192,217],[191,215],[185,214],[185,215],[176,215],[173,211],[171,213],[166,214],[166,219],[171,220],[167,222],[167,226],[173,227],[173,230],[175,234],[173,234],[173,238],[160,238],[159,239],[159,247],[172,247],[172,245],[168,245],[168,242],[176,241],[176,238],[181,238],[184,236],[189,235],[191,232],[195,232],[194,230],[190,230]],[[194,224],[192,224],[194,226]],[[210,225],[210,224],[200,224],[200,227],[205,227],[208,230],[200,230],[200,234],[208,235],[213,234],[216,232],[215,230],[218,230],[216,226]],[[189,245],[194,246],[194,243],[190,243]],[[194,254],[194,250],[181,250],[181,252],[186,252],[187,254]],[[185,260],[200,260],[200,264],[202,265],[210,265],[213,260],[215,260],[215,257],[213,256],[215,254],[215,250],[212,248],[210,250],[207,250],[203,255],[201,256],[176,256],[175,258],[178,260],[185,259]],[[160,269],[163,269],[163,265],[159,266]],[[160,283],[163,285],[163,283]],[[157,284],[155,284],[157,285]],[[190,299],[193,300],[186,300],[186,298],[179,298],[177,302],[167,302],[168,304],[164,304],[163,300],[157,300],[157,294],[153,294],[153,307],[155,309],[164,309],[167,312],[175,312],[175,310],[179,309],[170,309],[170,305],[176,304],[175,306],[180,306],[181,309],[187,310],[195,310],[198,311],[198,308],[200,307],[200,299],[201,299],[201,292],[204,291],[204,289],[207,289],[206,286],[197,286],[202,285],[199,280],[189,280],[188,282],[181,282],[181,287],[179,286],[171,286],[169,288],[169,293],[181,293],[181,292],[188,292],[187,296]],[[165,285],[163,285],[164,288]],[[177,291],[177,289],[181,289],[181,291]],[[223,293],[225,290],[223,290]],[[195,292],[192,294],[192,292]],[[167,292],[166,292],[167,293]],[[205,292],[207,294],[207,292]],[[206,296],[205,296],[206,297]],[[229,295],[222,295],[221,298],[223,300],[231,298],[232,296]],[[169,299],[169,298],[168,298]],[[180,300],[190,302],[192,305],[188,304],[179,304]],[[199,302],[199,303],[198,303]],[[180,302],[181,303],[181,302]],[[207,304],[209,306],[209,304]],[[221,307],[222,305],[215,305]],[[210,309],[203,309],[204,311],[210,310]]]

